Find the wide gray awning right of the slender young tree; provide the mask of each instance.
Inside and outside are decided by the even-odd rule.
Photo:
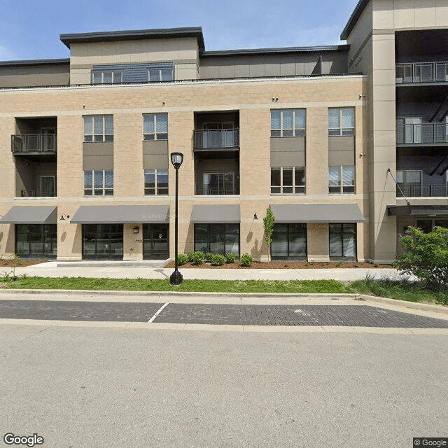
[[[363,223],[357,204],[272,204],[276,223]]]

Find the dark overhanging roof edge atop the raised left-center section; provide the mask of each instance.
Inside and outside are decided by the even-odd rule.
[[[202,27],[130,29],[123,31],[99,31],[94,33],[60,34],[59,38],[68,48],[71,43],[135,41],[137,39],[196,37],[201,51],[205,50]]]

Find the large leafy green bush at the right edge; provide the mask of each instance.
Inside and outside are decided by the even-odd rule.
[[[405,253],[393,262],[393,267],[405,274],[412,274],[428,288],[448,288],[448,229],[436,227],[433,232],[423,233],[414,227],[408,235],[400,238]]]

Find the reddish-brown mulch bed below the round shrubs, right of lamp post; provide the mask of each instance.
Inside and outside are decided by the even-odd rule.
[[[174,261],[169,262],[165,267],[174,267]],[[367,269],[391,268],[392,265],[373,265],[367,262],[308,262],[308,261],[253,261],[251,266],[242,266],[241,262],[224,263],[221,266],[211,265],[209,262],[202,262],[201,265],[193,265],[188,262],[180,266],[193,269],[347,269],[353,267],[364,267]]]

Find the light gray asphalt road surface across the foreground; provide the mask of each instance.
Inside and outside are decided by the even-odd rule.
[[[43,448],[409,448],[412,437],[448,435],[447,360],[448,336],[436,334],[3,323],[1,438],[37,433]]]

